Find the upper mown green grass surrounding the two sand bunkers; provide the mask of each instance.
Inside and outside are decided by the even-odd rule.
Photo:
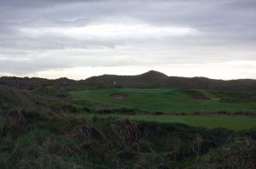
[[[110,93],[125,93],[126,99],[109,98]],[[192,99],[189,94],[201,93],[211,100]],[[216,112],[226,110],[256,111],[255,102],[222,103],[220,98],[205,90],[182,89],[135,89],[135,88],[105,88],[95,90],[80,90],[70,92],[75,103],[88,101],[104,104],[116,104],[148,111],[164,112]]]

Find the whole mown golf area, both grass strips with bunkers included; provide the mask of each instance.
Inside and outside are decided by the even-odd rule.
[[[116,97],[113,97],[113,93]],[[183,123],[193,127],[222,127],[236,131],[256,127],[255,100],[247,99],[244,93],[220,95],[207,90],[175,88],[99,88],[72,91],[70,95],[77,106],[88,103],[108,104],[108,114],[98,114],[104,118],[114,116],[134,121]],[[231,101],[224,102],[223,97],[230,98]],[[118,108],[128,110],[123,113],[122,109]],[[241,116],[242,112],[250,114]],[[219,113],[224,115],[218,115]],[[85,113],[78,118],[92,115],[97,114]]]

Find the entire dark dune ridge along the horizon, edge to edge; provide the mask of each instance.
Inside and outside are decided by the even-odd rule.
[[[117,82],[117,87],[132,88],[185,88],[185,89],[206,89],[215,91],[235,91],[256,93],[256,80],[216,80],[206,77],[181,77],[166,76],[158,71],[150,70],[137,76],[102,75],[92,76],[85,80],[74,81],[67,78],[48,80],[38,77],[0,77],[0,85],[17,87],[31,90],[37,87],[57,87],[57,88],[80,88],[80,87],[113,87],[113,82]]]

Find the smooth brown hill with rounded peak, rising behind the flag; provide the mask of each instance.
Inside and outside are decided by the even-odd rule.
[[[84,84],[95,87],[112,87],[117,82],[119,87],[159,88],[175,87],[187,89],[207,89],[219,91],[256,92],[256,80],[215,80],[206,77],[166,76],[158,71],[150,70],[137,76],[103,75],[85,79]]]

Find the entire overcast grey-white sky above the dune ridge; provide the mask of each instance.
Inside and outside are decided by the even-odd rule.
[[[0,0],[0,76],[256,79],[255,0]]]

